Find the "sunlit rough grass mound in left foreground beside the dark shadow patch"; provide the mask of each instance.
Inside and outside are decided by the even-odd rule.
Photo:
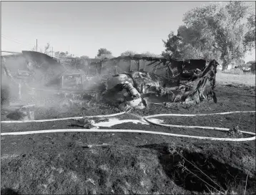
[[[86,149],[74,144],[65,152],[57,151],[49,149],[4,159],[1,194],[11,194],[4,193],[4,189],[18,194],[187,193],[165,176],[157,154],[150,149]]]

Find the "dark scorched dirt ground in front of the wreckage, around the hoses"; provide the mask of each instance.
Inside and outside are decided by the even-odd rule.
[[[255,110],[255,87],[217,85],[216,89],[216,104],[203,102],[171,108],[152,105],[132,113],[145,116]],[[35,117],[39,120],[117,112],[106,105],[68,110],[37,108]],[[119,119],[134,117],[121,115]],[[6,113],[2,113],[1,120],[7,120]],[[172,125],[228,128],[239,125],[240,130],[255,132],[255,113],[162,117],[161,120]],[[69,126],[71,122],[1,124],[1,132],[74,128]],[[214,130],[188,130],[132,122],[101,129],[228,137],[227,133]],[[102,143],[109,145],[87,147],[87,144]],[[209,191],[243,194],[245,188],[246,194],[254,194],[255,179],[255,140],[220,142],[119,132],[1,136],[1,194],[202,194]]]

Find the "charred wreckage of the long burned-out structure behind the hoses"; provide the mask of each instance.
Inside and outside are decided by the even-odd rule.
[[[31,62],[38,62],[42,59],[41,56],[47,56],[32,51],[22,53],[29,59],[30,69],[33,67]],[[51,62],[48,62],[49,60]],[[97,94],[97,101],[119,107],[120,110],[144,109],[156,102],[162,102],[165,106],[177,102],[199,103],[211,99],[217,102],[215,76],[219,64],[216,60],[120,56],[104,60],[88,59],[87,65],[82,66],[84,69],[81,70],[77,69],[77,66],[74,68],[74,65],[67,68],[68,65],[63,65],[50,56],[44,57],[41,61],[44,66],[48,65],[48,68],[54,65],[62,68],[58,69],[59,73],[55,71],[55,75],[44,83],[44,89],[52,89],[54,86],[58,94],[64,93],[65,97],[68,94],[80,99],[83,99],[88,91],[94,91]],[[43,66],[36,64],[36,68]],[[4,75],[14,80],[4,63],[2,67]],[[46,71],[47,68],[43,69]],[[162,72],[157,73],[158,70]],[[26,86],[28,85],[29,83],[26,83]],[[6,94],[6,91],[3,94]],[[8,98],[8,95],[6,98],[1,97],[1,105],[8,102]]]

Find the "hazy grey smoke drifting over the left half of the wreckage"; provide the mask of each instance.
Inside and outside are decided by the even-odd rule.
[[[96,97],[97,93],[104,90],[104,81],[107,80],[106,76],[97,76],[94,70],[89,72],[77,70],[74,67],[72,68],[72,65],[66,65],[65,63],[49,63],[49,60],[44,58],[36,60],[31,58],[31,56],[29,58],[9,58],[6,59],[5,64],[13,79],[4,75],[4,71],[2,71],[1,78],[4,81],[1,84],[9,86],[10,101],[20,105],[34,104],[36,105],[36,112],[44,113],[43,115],[46,115],[47,110],[52,109],[60,114],[71,112],[67,107],[63,107],[64,102],[70,102],[70,100],[73,102],[74,100],[82,100],[85,103],[89,102],[92,95]],[[23,70],[25,75],[19,75],[18,70]],[[30,75],[26,75],[26,73]],[[79,83],[82,88],[79,90],[64,90],[61,88],[63,75],[77,73],[82,75],[83,83]],[[103,74],[112,76],[112,73],[108,71]],[[66,84],[68,85],[74,80],[67,81]],[[75,109],[77,109],[76,106],[74,107]]]

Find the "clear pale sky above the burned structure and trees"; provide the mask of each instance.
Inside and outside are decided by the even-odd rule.
[[[97,56],[107,48],[161,54],[170,31],[177,33],[183,14],[210,1],[2,1],[1,50],[53,51]]]

